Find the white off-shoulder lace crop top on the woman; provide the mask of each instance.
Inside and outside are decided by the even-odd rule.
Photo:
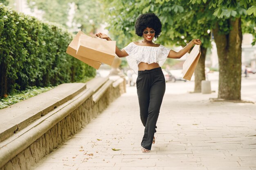
[[[130,68],[138,74],[138,65],[140,62],[152,64],[158,63],[161,67],[171,49],[166,48],[163,45],[155,46],[139,46],[131,42],[128,46],[124,47],[124,50],[128,54],[126,60]]]

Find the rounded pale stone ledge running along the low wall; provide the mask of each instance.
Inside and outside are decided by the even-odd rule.
[[[65,117],[67,117],[70,113],[84,104],[90,97],[92,97],[91,100],[93,100],[93,105],[95,105],[95,103],[99,102],[101,97],[104,97],[104,94],[111,94],[109,89],[116,88],[116,90],[121,92],[122,90],[119,89],[120,87],[117,88],[118,85],[120,86],[120,84],[122,84],[121,79],[109,80],[109,78],[107,78],[104,80],[99,80],[97,87],[94,86],[94,89],[83,89],[81,93],[77,94],[69,101],[50,111],[47,113],[47,115],[44,115],[43,117],[40,117],[36,121],[27,125],[27,127],[23,128],[17,134],[9,137],[9,139],[2,141],[0,143],[0,169],[8,169],[8,167],[11,165],[11,160],[17,157],[17,155],[20,155],[21,152],[24,152],[24,150],[27,150],[30,145],[32,145],[60,121],[65,119]],[[124,82],[124,79],[122,80]],[[121,93],[124,93],[124,91]],[[100,110],[98,111],[100,112]]]

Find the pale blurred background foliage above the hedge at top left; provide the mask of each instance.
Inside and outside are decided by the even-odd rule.
[[[66,28],[68,11],[74,3],[75,13],[70,29],[81,29],[84,33],[94,33],[102,24],[102,5],[99,0],[28,0],[29,7],[44,11],[43,18],[62,24]]]

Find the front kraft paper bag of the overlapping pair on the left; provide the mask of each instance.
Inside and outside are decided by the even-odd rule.
[[[116,42],[101,38],[93,38],[81,34],[76,50],[76,55],[86,57],[97,62],[112,65],[115,58]]]

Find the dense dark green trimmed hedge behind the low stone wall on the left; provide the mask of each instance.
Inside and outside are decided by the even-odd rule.
[[[94,68],[65,53],[73,37],[0,4],[0,95],[94,77]]]

